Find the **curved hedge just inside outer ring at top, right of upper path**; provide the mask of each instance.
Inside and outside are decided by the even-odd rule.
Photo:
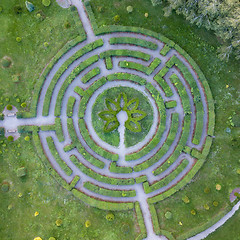
[[[148,48],[151,50],[156,50],[158,48],[158,45],[156,43],[139,39],[139,38],[133,38],[133,37],[113,37],[109,39],[109,43],[111,45],[113,44],[131,44],[135,46],[140,46],[144,48]]]

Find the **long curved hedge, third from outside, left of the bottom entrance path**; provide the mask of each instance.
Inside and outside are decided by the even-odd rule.
[[[83,163],[79,162],[79,160],[75,155],[72,155],[70,159],[72,163],[77,168],[79,168],[82,173],[97,180],[98,182],[104,182],[104,183],[115,185],[115,186],[116,185],[133,185],[135,183],[133,178],[111,178],[111,177],[107,177],[99,173],[96,173],[92,169],[86,167]]]

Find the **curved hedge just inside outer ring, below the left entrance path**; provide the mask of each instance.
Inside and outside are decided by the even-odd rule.
[[[52,137],[47,137],[46,140],[47,140],[48,147],[49,147],[49,149],[50,149],[54,159],[56,160],[57,164],[63,170],[63,172],[65,172],[65,174],[70,176],[72,174],[72,170],[67,165],[67,163],[64,162],[64,160],[59,156],[58,151],[56,149],[56,146],[55,146],[55,143],[54,143]]]

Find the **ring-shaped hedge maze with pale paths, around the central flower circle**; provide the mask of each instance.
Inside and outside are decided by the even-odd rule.
[[[90,205],[121,210],[134,207],[141,184],[149,203],[187,184],[209,152],[214,127],[211,92],[195,62],[171,41],[136,33],[103,35],[71,51],[47,76],[38,106],[55,117],[39,138],[63,185]],[[149,141],[126,152],[119,166],[117,148],[95,139],[85,112],[99,88],[123,82],[151,96],[158,116]]]

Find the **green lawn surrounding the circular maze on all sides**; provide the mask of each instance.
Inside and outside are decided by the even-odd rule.
[[[37,20],[36,11],[27,12],[24,1],[1,2],[0,58],[9,56],[13,61],[10,68],[0,69],[1,110],[7,104],[20,109],[22,102],[30,103],[34,84],[46,63],[68,40],[82,33],[76,12],[61,9],[53,1],[48,8],[38,1],[33,3],[36,11],[42,9],[45,20]],[[14,14],[15,5],[23,7],[22,15]],[[152,7],[150,0],[92,0],[91,5],[99,26],[114,24],[114,16],[119,15],[118,24],[144,27],[170,38],[192,56],[208,79],[216,112],[211,153],[190,185],[156,204],[160,227],[179,236],[209,221],[225,206],[230,206],[229,193],[239,187],[240,130],[236,120],[240,114],[239,61],[230,59],[225,63],[218,60],[217,48],[220,45],[211,32],[190,25],[176,14],[165,18],[162,6]],[[130,14],[126,10],[128,5],[133,6]],[[101,6],[102,10],[99,8]],[[146,12],[148,18],[144,17]],[[70,28],[64,28],[66,21],[70,22]],[[16,41],[18,36],[22,38],[21,42]],[[48,42],[48,47],[44,46],[44,42]],[[227,128],[231,130],[230,133],[226,132]],[[106,211],[86,207],[48,175],[47,169],[36,156],[32,142],[25,142],[24,136],[13,143],[1,142],[0,151],[0,182],[7,180],[11,183],[9,192],[0,194],[0,239],[25,240],[36,236],[48,239],[53,236],[56,239],[114,240],[136,237],[136,220],[132,211],[116,212],[114,221],[108,222]],[[27,176],[17,178],[16,170],[22,166],[26,167]],[[216,184],[222,186],[220,191],[216,190]],[[204,192],[206,187],[211,189],[208,194]],[[20,193],[22,197],[19,197]],[[181,200],[185,195],[190,199],[189,204]],[[219,205],[214,207],[213,201],[218,201]],[[208,204],[210,209],[204,209],[204,204]],[[197,212],[195,216],[191,215],[192,209]],[[173,213],[170,220],[163,217],[168,210]],[[36,211],[39,215],[35,217]],[[60,227],[55,224],[58,218],[63,220]],[[239,213],[207,239],[237,239],[236,236],[240,234],[240,229],[236,227],[238,219]],[[84,225],[86,220],[92,222],[89,228]],[[179,225],[179,221],[182,225]],[[119,227],[122,225],[125,226],[125,235],[122,227]]]

